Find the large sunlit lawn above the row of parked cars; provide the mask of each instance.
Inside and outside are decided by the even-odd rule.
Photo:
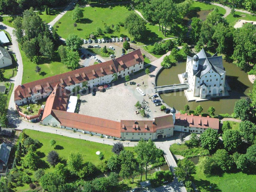
[[[119,22],[124,22],[125,17],[133,12],[129,11],[125,6],[114,6],[112,9],[101,7],[85,7],[83,10],[84,17],[81,19],[81,21],[76,22],[77,27],[73,26],[74,21],[72,20],[72,11],[68,11],[59,20],[61,23],[57,23],[56,25],[59,26],[57,29],[60,36],[67,38],[69,34],[77,34],[81,38],[88,39],[89,34],[94,32],[96,27],[100,27],[104,31],[104,24],[107,24],[110,25],[112,29],[112,25],[116,25]],[[151,44],[164,38],[173,37],[168,34],[166,37],[164,37],[164,35],[158,31],[158,26],[150,25],[147,23],[146,27],[146,38],[142,42],[138,42],[138,45]],[[120,36],[130,37],[129,33],[124,29],[124,27],[120,27],[120,33],[113,32],[111,34],[102,34],[97,38],[112,38]],[[131,40],[133,40],[133,38],[131,38]]]

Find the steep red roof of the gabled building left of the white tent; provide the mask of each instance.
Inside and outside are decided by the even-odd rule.
[[[45,110],[42,116],[42,120],[51,114],[52,109],[66,111],[68,106],[70,91],[60,87],[58,84],[51,92],[45,103]]]

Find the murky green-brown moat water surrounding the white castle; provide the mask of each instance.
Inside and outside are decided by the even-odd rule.
[[[233,113],[235,102],[241,98],[248,96],[249,90],[252,90],[253,84],[249,81],[247,73],[241,70],[233,63],[228,63],[224,59],[223,66],[226,70],[226,80],[231,88],[229,92],[230,97],[218,98],[203,102],[188,102],[184,91],[176,93],[161,94],[160,97],[164,102],[177,110],[184,110],[186,104],[189,105],[190,110],[195,110],[198,105],[204,109],[202,113],[207,113],[210,106],[215,107],[215,114]],[[169,69],[164,69],[156,79],[156,86],[178,84],[178,74],[186,71],[186,62],[177,62],[176,66]]]

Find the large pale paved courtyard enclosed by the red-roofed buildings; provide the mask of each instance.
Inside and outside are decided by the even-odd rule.
[[[130,82],[133,82],[133,85],[128,82],[128,85],[126,83],[125,86],[122,79],[115,83],[114,86],[112,85],[110,89],[106,89],[104,93],[97,91],[95,96],[91,94],[81,96],[82,102],[79,113],[114,121],[120,121],[121,119],[145,120],[165,115],[164,112],[160,111],[160,107],[156,107],[151,99],[148,98],[148,95],[154,95],[153,85],[151,84],[153,78],[144,74],[144,72],[141,72],[131,76]],[[144,82],[145,86],[142,85],[142,82]],[[137,83],[140,86],[136,86]],[[145,96],[138,92],[137,87],[140,87]],[[143,99],[148,102],[148,107],[146,107],[145,111],[148,114],[147,117],[135,114],[138,109],[134,105],[137,101],[141,103]]]

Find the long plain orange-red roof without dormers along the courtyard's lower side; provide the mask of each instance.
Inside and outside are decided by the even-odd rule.
[[[62,126],[121,137],[120,122],[55,109],[51,110],[51,114]]]

